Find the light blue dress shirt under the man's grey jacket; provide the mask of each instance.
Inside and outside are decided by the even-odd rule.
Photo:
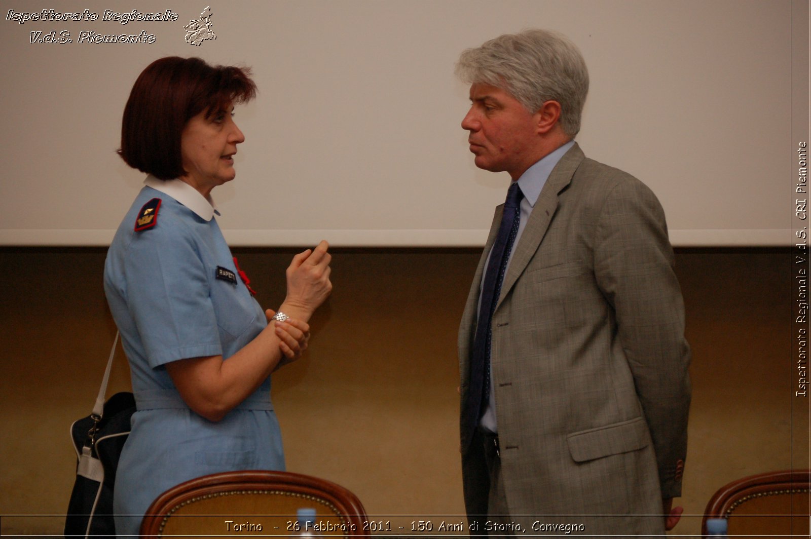
[[[569,148],[574,146],[574,141],[571,140],[568,143],[565,143],[560,148],[557,148],[554,152],[547,154],[547,156],[543,156],[543,159],[539,160],[537,163],[532,165],[529,169],[526,169],[526,172],[521,174],[521,178],[518,178],[518,186],[521,188],[521,193],[524,194],[524,198],[521,199],[521,217],[518,223],[518,233],[515,237],[515,241],[513,242],[513,246],[509,251],[509,255],[507,258],[507,270],[504,272],[504,275],[507,275],[509,271],[509,263],[510,260],[513,259],[513,252],[515,252],[515,247],[518,245],[518,242],[521,240],[521,234],[524,233],[524,228],[526,227],[526,221],[530,218],[530,213],[532,213],[532,208],[535,207],[535,203],[538,201],[538,197],[541,195],[541,190],[543,190],[543,186],[546,185],[547,179],[549,178],[549,174],[551,174],[552,169],[555,168],[555,165],[558,164],[560,158],[564,156],[564,153],[569,152]],[[490,263],[490,255],[487,255],[487,261],[484,263],[484,271],[487,272],[487,264]],[[482,283],[479,284],[479,287],[483,286],[484,284],[484,275],[482,275]],[[482,306],[482,290],[479,288],[478,291],[478,308],[476,312],[478,313],[481,310]],[[498,423],[496,421],[496,391],[493,391],[492,388],[495,387],[493,385],[493,372],[492,369],[490,370],[490,400],[487,403],[487,408],[484,410],[484,415],[482,416],[482,421],[480,425],[484,430],[489,432],[498,432]]]

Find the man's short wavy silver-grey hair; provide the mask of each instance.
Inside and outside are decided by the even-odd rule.
[[[469,84],[501,88],[537,112],[544,101],[560,103],[560,126],[574,138],[589,92],[589,71],[577,46],[549,30],[504,34],[461,53],[457,76]]]

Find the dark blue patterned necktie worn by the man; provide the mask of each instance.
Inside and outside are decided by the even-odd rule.
[[[504,203],[504,214],[501,216],[499,233],[496,242],[490,251],[490,260],[487,263],[487,272],[484,274],[482,286],[482,301],[478,310],[478,323],[473,350],[470,353],[470,382],[465,403],[464,426],[466,441],[463,448],[467,448],[473,433],[478,427],[478,421],[490,399],[490,344],[492,338],[493,311],[501,292],[501,283],[507,269],[510,250],[518,233],[521,222],[521,198],[523,193],[518,182],[513,182],[507,190],[507,201]]]

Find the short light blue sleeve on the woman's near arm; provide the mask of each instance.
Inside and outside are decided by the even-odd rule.
[[[220,355],[210,272],[187,223],[164,218],[160,226],[136,233],[129,249],[127,306],[149,366]]]

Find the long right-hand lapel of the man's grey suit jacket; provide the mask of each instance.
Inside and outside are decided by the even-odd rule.
[[[504,297],[513,288],[513,284],[524,272],[526,265],[530,263],[530,259],[538,250],[543,236],[547,233],[552,216],[555,215],[558,205],[558,193],[569,185],[575,170],[585,158],[583,151],[577,143],[574,143],[574,146],[569,148],[569,152],[564,153],[564,156],[560,158],[558,164],[549,174],[538,200],[535,201],[535,206],[532,208],[530,219],[526,222],[524,232],[521,233],[521,239],[518,240],[518,245],[513,252],[513,259],[510,260],[507,275],[504,276],[504,283],[501,284],[501,293],[499,301],[496,303],[496,309],[504,301]]]

